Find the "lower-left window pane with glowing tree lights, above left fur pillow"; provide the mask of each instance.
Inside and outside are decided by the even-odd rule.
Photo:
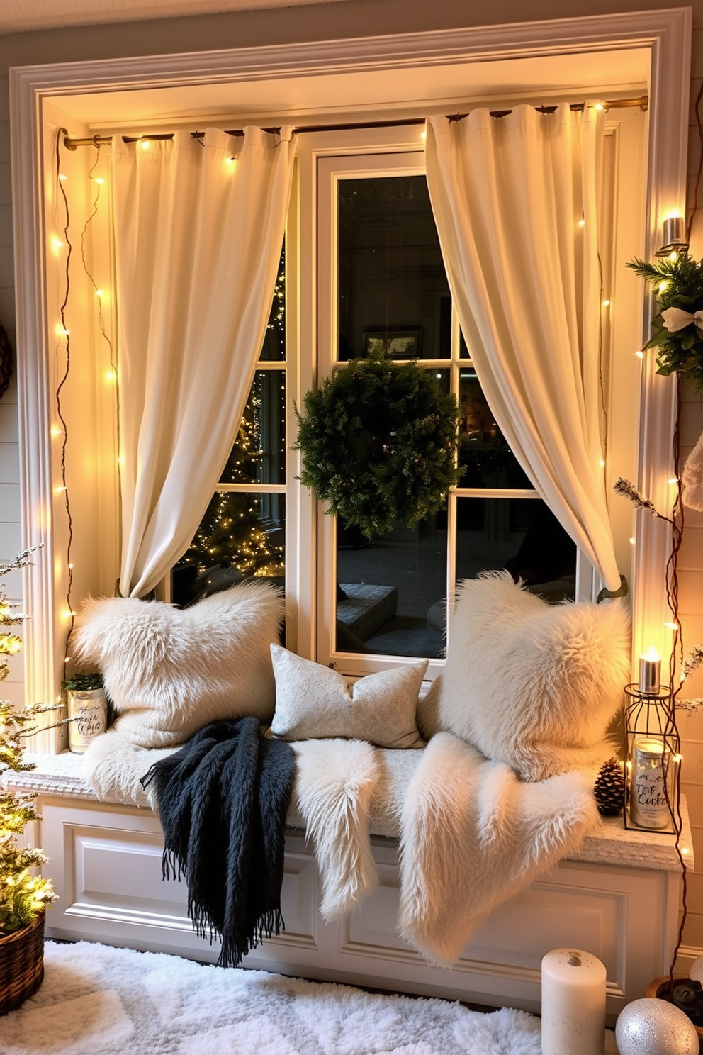
[[[216,494],[191,545],[173,570],[173,599],[189,605],[250,576],[284,586],[284,495]]]

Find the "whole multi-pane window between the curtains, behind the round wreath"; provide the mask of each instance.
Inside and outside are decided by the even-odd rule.
[[[447,597],[458,579],[507,568],[535,592],[573,596],[575,546],[536,497],[484,398],[452,309],[423,153],[328,152],[299,171],[301,198],[316,204],[316,266],[311,248],[295,246],[299,263],[287,289],[281,256],[239,431],[193,543],[173,570],[173,599],[190,603],[252,575],[282,584],[286,561],[307,567],[310,539],[300,537],[295,516],[286,523],[287,496],[289,509],[305,501],[295,474],[286,474],[286,418],[294,400],[301,404],[305,385],[287,399],[287,384],[327,377],[380,346],[397,362],[416,359],[455,396],[460,485],[433,517],[411,529],[396,524],[372,541],[318,515],[316,575],[288,575],[289,587],[298,586],[287,607],[311,613],[314,658],[339,670],[365,673],[398,657],[440,660]],[[306,173],[311,180],[315,173],[316,193],[304,186]],[[304,335],[300,349],[296,342],[287,352],[286,298],[307,289],[317,310],[316,348]],[[289,445],[294,435],[289,421]]]

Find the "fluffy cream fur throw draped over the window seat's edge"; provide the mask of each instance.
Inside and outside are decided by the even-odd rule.
[[[369,832],[397,836],[398,928],[435,963],[455,960],[496,905],[573,855],[598,823],[592,772],[523,783],[447,732],[423,750],[353,740],[294,748],[289,821],[314,845],[323,916],[348,915],[377,884]],[[139,778],[156,753],[112,731],[91,745],[85,776],[100,799],[153,806]]]

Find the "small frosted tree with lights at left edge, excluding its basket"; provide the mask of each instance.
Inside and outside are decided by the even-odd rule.
[[[31,563],[33,552],[25,550],[8,563],[0,564],[0,577]],[[15,612],[15,608],[7,601],[0,579],[0,682],[9,673],[7,656],[22,648],[15,628],[26,616]],[[32,923],[56,897],[51,880],[33,874],[47,858],[40,849],[23,847],[18,842],[26,825],[37,819],[34,797],[13,793],[4,779],[9,770],[21,772],[34,768],[23,762],[24,738],[36,730],[38,716],[51,710],[54,710],[52,705],[32,704],[17,712],[8,701],[0,699],[0,939]]]

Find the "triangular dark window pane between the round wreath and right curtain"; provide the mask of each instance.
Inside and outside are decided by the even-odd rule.
[[[495,424],[475,370],[462,366],[458,381],[460,487],[532,487]]]

